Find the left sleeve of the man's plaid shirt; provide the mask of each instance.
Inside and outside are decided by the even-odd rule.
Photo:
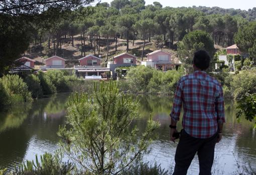
[[[180,111],[182,107],[182,82],[181,79],[178,81],[176,91],[174,94],[174,100],[173,100],[173,108],[170,116],[174,121],[180,120]]]

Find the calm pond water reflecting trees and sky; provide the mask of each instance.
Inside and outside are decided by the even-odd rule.
[[[0,168],[14,167],[26,159],[35,159],[36,154],[54,152],[58,148],[56,134],[59,125],[65,123],[65,108],[69,94],[58,94],[40,99],[31,105],[19,105],[9,112],[0,113]],[[161,163],[161,167],[172,169],[177,143],[169,141],[171,97],[139,96],[142,118],[136,121],[140,129],[145,128],[150,113],[160,121],[159,135],[151,145],[146,162]],[[214,174],[244,173],[240,166],[256,169],[256,136],[252,124],[241,120],[237,124],[232,103],[226,103],[226,123],[223,139],[216,145]],[[180,122],[178,128],[181,128]],[[189,174],[198,172],[198,160],[194,158]]]

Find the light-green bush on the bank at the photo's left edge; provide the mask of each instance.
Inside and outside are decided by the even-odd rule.
[[[5,75],[0,78],[0,84],[2,84],[14,104],[33,100],[27,84],[19,75]]]

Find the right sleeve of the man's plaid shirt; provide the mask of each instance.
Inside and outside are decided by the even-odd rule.
[[[225,122],[225,109],[222,86],[219,85],[219,95],[215,99],[215,110],[217,113],[217,122]]]

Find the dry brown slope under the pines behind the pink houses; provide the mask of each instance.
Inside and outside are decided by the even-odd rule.
[[[95,42],[96,43],[96,42]],[[92,54],[94,55],[94,47],[91,47],[91,44],[89,41],[86,41],[85,43],[85,55]],[[92,41],[92,46],[94,45],[94,42]],[[95,44],[96,45],[96,44]],[[146,59],[146,54],[153,52],[155,50],[163,49],[166,52],[172,53],[172,59],[177,62],[177,52],[172,49],[168,49],[166,46],[164,46],[163,43],[159,43],[159,45],[154,41],[146,41],[145,44],[145,50],[144,50],[144,59]],[[42,65],[43,59],[49,58],[53,56],[53,47],[54,44],[50,42],[50,49],[48,49],[48,41],[45,41],[42,43],[42,54],[40,53],[40,44],[36,43],[33,45],[30,45],[30,49],[25,52],[25,56],[36,60],[36,65]],[[66,38],[62,39],[62,49],[59,48],[58,56],[66,59],[66,66],[72,67],[73,65],[78,65],[78,59],[82,58],[81,56],[81,39],[80,36],[74,36],[74,47],[72,46],[72,39]],[[141,62],[141,55],[143,50],[143,41],[142,40],[136,40],[133,46],[133,40],[129,41],[129,53],[130,54],[136,54],[136,56],[139,58],[137,61],[137,64],[140,64]],[[96,56],[98,56],[98,50],[97,46],[95,49]],[[109,39],[109,53],[108,53],[108,61],[112,60],[112,57],[115,55],[118,55],[120,53],[126,52],[126,40],[123,39],[117,39],[117,51],[115,52],[115,41],[114,39]],[[107,48],[106,48],[106,39],[100,38],[100,52],[99,55],[101,55],[102,63],[106,60],[106,54],[107,54]]]

